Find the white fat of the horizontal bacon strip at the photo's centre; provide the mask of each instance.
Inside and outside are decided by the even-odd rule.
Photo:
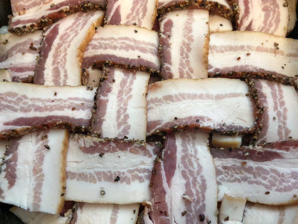
[[[156,87],[158,85],[158,87]],[[152,88],[150,88],[152,87]],[[246,93],[249,92],[245,82],[236,79],[212,78],[212,79],[168,79],[149,85],[147,117],[150,121],[172,121],[174,117],[184,118],[188,116],[206,116],[212,122],[205,121],[204,126],[216,127],[220,124],[239,125],[242,127],[254,127],[254,105]],[[175,95],[177,93],[216,94],[239,93],[237,97],[224,99],[187,99],[181,102],[154,102],[153,99],[161,99],[162,96]],[[211,113],[210,113],[211,112]]]

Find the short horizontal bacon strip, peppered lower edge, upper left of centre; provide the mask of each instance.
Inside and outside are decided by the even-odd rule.
[[[85,50],[83,67],[100,67],[105,63],[159,72],[158,47],[159,35],[153,30],[121,24],[98,27]]]

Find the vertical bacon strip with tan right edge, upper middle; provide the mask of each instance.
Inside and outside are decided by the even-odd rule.
[[[186,9],[159,19],[163,79],[207,78],[209,11]]]

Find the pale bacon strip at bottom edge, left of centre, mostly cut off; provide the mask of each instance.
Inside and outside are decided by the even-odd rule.
[[[139,206],[77,202],[71,224],[135,224]]]

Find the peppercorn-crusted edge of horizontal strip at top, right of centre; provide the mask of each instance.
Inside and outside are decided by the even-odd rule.
[[[234,1],[233,1],[234,2]],[[237,3],[233,3],[237,4]],[[238,4],[237,4],[238,6]],[[217,12],[227,19],[231,20],[232,22],[235,21],[235,12],[233,10],[228,9],[226,6],[215,2],[215,1],[207,1],[207,0],[184,0],[184,1],[176,1],[175,3],[169,6],[162,6],[157,8],[157,14],[163,14],[167,12],[171,12],[174,10],[181,10],[181,9],[193,9],[193,8],[201,8],[201,9],[208,9],[214,12]],[[233,8],[233,7],[232,7]]]

